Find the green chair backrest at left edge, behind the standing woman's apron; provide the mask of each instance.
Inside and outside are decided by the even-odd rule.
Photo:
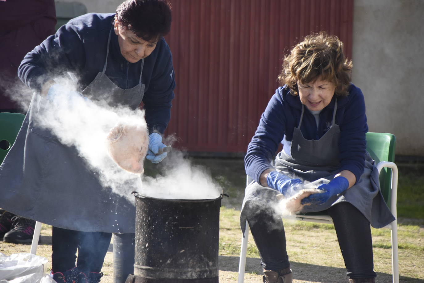
[[[0,113],[0,164],[15,142],[24,118],[21,113]]]

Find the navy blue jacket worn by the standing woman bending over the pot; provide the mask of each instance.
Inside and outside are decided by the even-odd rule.
[[[78,78],[80,91],[84,90],[103,70],[107,40],[112,33],[106,76],[122,89],[136,86],[141,60],[130,63],[120,53],[118,36],[113,31],[114,15],[89,13],[70,20],[25,56],[18,76],[31,90],[39,92],[45,81],[72,72]],[[142,101],[149,131],[155,129],[163,133],[170,120],[176,85],[172,54],[163,38],[145,58],[142,83],[145,84]]]

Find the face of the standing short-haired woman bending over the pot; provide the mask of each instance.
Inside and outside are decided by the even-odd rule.
[[[118,21],[114,24],[115,34],[118,36],[119,48],[122,56],[130,62],[135,63],[149,56],[156,47],[157,40],[151,42],[136,36],[132,31],[121,28]]]

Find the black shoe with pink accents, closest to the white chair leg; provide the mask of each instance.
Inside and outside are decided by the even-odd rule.
[[[35,221],[21,216],[14,216],[12,222],[12,227],[4,235],[3,241],[15,244],[31,243],[32,236],[34,235]]]

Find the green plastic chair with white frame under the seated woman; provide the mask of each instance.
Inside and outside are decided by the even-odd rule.
[[[396,164],[394,163],[396,138],[393,134],[368,132],[366,134],[366,140],[367,151],[377,164],[382,195],[386,204],[390,208],[391,213],[396,218],[392,223],[388,224],[386,228],[391,229],[393,283],[399,283],[399,258],[396,212],[398,169]],[[250,177],[247,177],[246,185],[250,184],[251,181],[252,179]],[[290,217],[290,219],[293,219],[293,217]],[[332,218],[325,212],[299,213],[296,215],[296,220],[333,224]],[[246,221],[246,229],[241,244],[238,283],[243,283],[244,281],[248,235],[249,225]]]

